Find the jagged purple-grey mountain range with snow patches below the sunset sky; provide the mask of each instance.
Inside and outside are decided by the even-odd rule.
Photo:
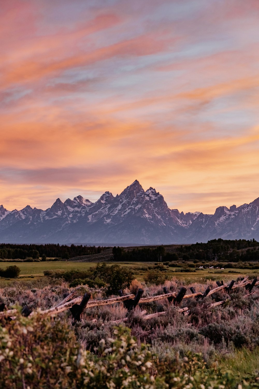
[[[240,207],[218,207],[214,215],[169,209],[155,189],[135,180],[115,197],[95,203],[77,196],[58,198],[46,209],[8,211],[0,206],[0,242],[170,244],[214,238],[259,239],[259,198]]]

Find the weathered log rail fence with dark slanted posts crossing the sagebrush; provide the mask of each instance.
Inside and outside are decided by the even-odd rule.
[[[64,299],[62,301],[60,301],[55,307],[49,308],[47,310],[38,309],[37,311],[33,311],[33,312],[31,312],[30,308],[24,307],[22,314],[24,316],[33,316],[33,315],[37,315],[37,314],[40,314],[43,316],[53,316],[53,315],[56,315],[60,312],[64,312],[65,310],[71,309],[72,307],[75,306],[74,308],[71,309],[71,312],[73,314],[74,321],[78,321],[78,320],[80,320],[80,314],[83,312],[83,310],[85,308],[111,305],[114,303],[128,301],[128,300],[131,300],[130,305],[132,305],[132,307],[135,308],[137,303],[149,303],[151,301],[159,301],[159,300],[163,300],[165,298],[167,298],[170,302],[173,301],[174,304],[177,305],[177,304],[181,303],[181,301],[185,298],[196,298],[196,299],[205,298],[206,296],[210,296],[210,295],[216,293],[217,291],[221,291],[222,289],[225,289],[225,291],[230,292],[230,290],[232,290],[232,289],[235,289],[238,287],[245,287],[249,291],[249,293],[251,293],[254,286],[259,286],[259,281],[257,281],[257,279],[254,279],[250,283],[249,280],[247,280],[247,279],[248,279],[248,277],[246,277],[241,282],[239,282],[238,284],[235,284],[235,285],[234,285],[235,281],[232,280],[231,283],[229,284],[229,286],[228,286],[228,284],[223,284],[223,282],[221,282],[221,283],[217,282],[217,285],[219,285],[219,286],[217,286],[214,289],[210,289],[209,287],[207,287],[207,289],[204,293],[202,293],[202,292],[196,293],[194,287],[190,287],[191,292],[194,292],[194,293],[186,294],[186,288],[182,287],[178,293],[177,292],[170,292],[170,293],[164,293],[164,294],[159,294],[157,296],[150,296],[150,297],[144,297],[144,298],[140,298],[141,295],[143,294],[143,290],[139,289],[136,296],[134,294],[127,294],[126,296],[114,297],[114,298],[110,298],[107,300],[91,300],[91,301],[89,301],[89,299],[90,299],[89,294],[87,294],[87,296],[85,294],[83,297],[83,300],[82,300],[82,296],[73,298],[77,292],[77,289],[76,289],[72,293],[70,293],[68,295],[64,295]],[[168,291],[166,287],[164,288],[164,291],[165,290]],[[73,299],[71,300],[71,298],[73,298]],[[214,305],[212,305],[212,306],[220,305],[222,303],[223,303],[223,301],[219,302],[219,303],[214,303]],[[184,309],[184,311],[181,311],[181,312],[187,312],[187,310],[188,310],[188,308],[187,309],[179,308],[179,309],[180,310]],[[159,312],[159,313],[162,314],[162,312]],[[3,310],[3,312],[0,312],[0,319],[3,317],[12,317],[15,314],[17,314],[17,309]],[[152,314],[152,315],[156,315],[156,314]],[[147,315],[147,317],[148,316],[150,316],[150,315]]]

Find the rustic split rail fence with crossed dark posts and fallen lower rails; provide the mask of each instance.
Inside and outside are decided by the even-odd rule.
[[[178,312],[182,312],[184,315],[188,315],[188,314],[190,314],[190,310],[188,307],[184,307],[184,308],[179,307],[179,305],[181,304],[183,299],[195,298],[196,300],[200,300],[200,299],[206,298],[207,296],[212,296],[212,298],[213,298],[214,293],[221,291],[223,289],[226,293],[228,293],[230,295],[231,290],[233,290],[235,288],[239,288],[239,287],[245,287],[245,289],[248,291],[248,294],[251,294],[252,289],[255,286],[259,286],[259,281],[257,281],[257,278],[255,278],[254,280],[252,280],[252,282],[250,282],[248,280],[248,277],[245,277],[241,280],[239,279],[236,281],[232,280],[229,283],[229,285],[224,284],[223,281],[221,281],[221,282],[217,281],[216,283],[217,283],[216,288],[210,289],[209,287],[207,287],[207,289],[203,293],[196,292],[194,287],[190,287],[191,294],[186,294],[187,289],[185,287],[181,287],[180,290],[178,291],[178,293],[177,292],[169,292],[167,287],[164,287],[163,294],[159,294],[157,296],[151,296],[151,297],[144,297],[144,298],[142,297],[142,295],[144,293],[143,289],[138,289],[136,295],[127,294],[125,296],[123,296],[123,291],[119,290],[118,291],[119,297],[109,298],[107,300],[90,300],[90,298],[91,298],[90,293],[85,293],[83,295],[83,297],[80,296],[80,297],[73,298],[78,291],[77,289],[75,289],[75,291],[73,291],[70,294],[68,294],[68,293],[64,294],[64,296],[63,296],[64,299],[52,308],[49,308],[47,310],[38,309],[36,311],[32,311],[29,307],[26,306],[22,310],[22,315],[24,315],[26,317],[28,317],[28,316],[31,317],[33,315],[54,316],[54,315],[57,315],[61,312],[64,312],[64,311],[70,309],[70,312],[73,316],[73,323],[75,324],[76,321],[80,321],[81,315],[86,308],[100,307],[100,306],[104,306],[104,305],[111,305],[111,304],[122,302],[124,304],[125,308],[127,308],[128,311],[131,311],[134,308],[136,308],[136,306],[138,304],[149,303],[151,301],[159,301],[159,300],[163,300],[166,298],[170,304],[173,304],[176,306],[176,309]],[[218,305],[222,305],[224,302],[229,300],[229,298],[231,298],[231,296],[229,296],[225,300],[212,303],[209,305],[209,307],[207,307],[207,309],[216,307]],[[143,316],[143,319],[148,320],[148,319],[151,319],[153,317],[165,315],[165,313],[166,313],[166,311],[156,312],[153,314],[146,315],[146,311],[143,310],[141,312],[141,315]],[[8,318],[8,317],[10,319],[15,319],[16,314],[17,314],[17,309],[7,309],[5,304],[0,305],[0,319]],[[110,323],[116,324],[116,323],[120,323],[120,322],[126,322],[127,320],[128,320],[128,317],[125,317],[123,319],[111,321]],[[93,321],[96,321],[96,319],[94,319]]]

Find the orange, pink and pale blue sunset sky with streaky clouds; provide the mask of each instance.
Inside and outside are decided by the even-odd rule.
[[[0,204],[259,197],[258,26],[258,0],[2,1]]]

